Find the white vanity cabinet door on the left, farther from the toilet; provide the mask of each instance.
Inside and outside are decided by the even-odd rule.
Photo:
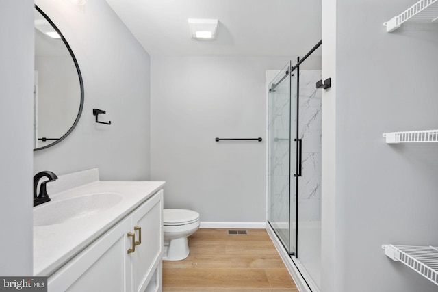
[[[118,223],[49,277],[49,292],[130,292],[131,265],[127,250],[131,218]]]

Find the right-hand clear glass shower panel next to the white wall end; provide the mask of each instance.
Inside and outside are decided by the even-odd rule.
[[[315,55],[321,55],[321,48]],[[302,140],[302,171],[298,179],[298,260],[316,287],[321,279],[321,90],[320,65],[303,62],[300,77],[298,137]],[[308,281],[309,282],[309,281]]]

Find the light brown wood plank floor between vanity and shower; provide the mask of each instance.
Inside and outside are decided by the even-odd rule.
[[[188,258],[164,261],[163,292],[298,292],[266,230],[227,230],[200,228]]]

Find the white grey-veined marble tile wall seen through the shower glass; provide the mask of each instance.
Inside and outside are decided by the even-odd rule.
[[[302,138],[302,177],[298,183],[300,221],[320,221],[321,198],[321,92],[315,88],[320,70],[300,71],[300,116],[298,137]],[[288,89],[287,89],[288,90]],[[292,105],[294,108],[294,105]],[[268,182],[270,220],[289,221],[289,93],[278,88],[270,93],[268,105],[269,151]],[[295,109],[292,109],[295,111]],[[296,115],[292,114],[292,124]],[[295,152],[292,149],[292,152]],[[294,183],[292,183],[294,188]],[[291,198],[294,204],[294,198]]]

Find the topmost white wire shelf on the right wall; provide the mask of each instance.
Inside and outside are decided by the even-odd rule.
[[[392,32],[410,19],[438,21],[438,0],[420,0],[383,25],[386,26],[387,32]]]

